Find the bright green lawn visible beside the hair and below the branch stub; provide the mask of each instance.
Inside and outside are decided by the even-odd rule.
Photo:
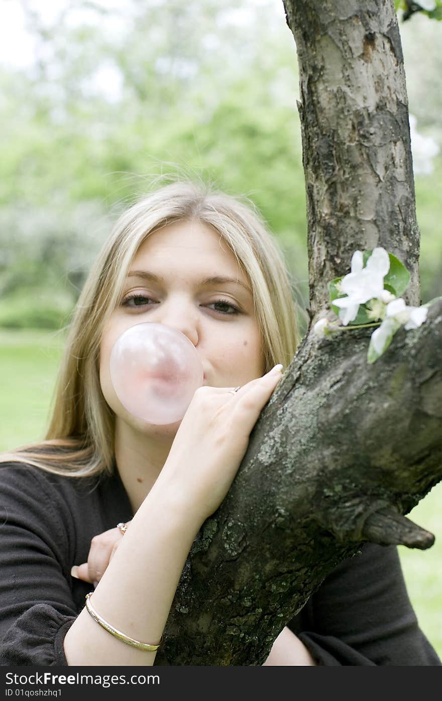
[[[0,329],[0,450],[43,438],[63,340],[55,332]],[[420,627],[442,658],[441,501],[438,484],[408,515],[435,534],[433,547],[401,546],[399,554]]]

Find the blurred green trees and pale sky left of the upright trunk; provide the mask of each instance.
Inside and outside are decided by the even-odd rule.
[[[250,196],[305,290],[296,50],[282,3],[39,5],[6,0],[34,57],[0,74],[0,325],[60,325],[111,221],[166,172]]]

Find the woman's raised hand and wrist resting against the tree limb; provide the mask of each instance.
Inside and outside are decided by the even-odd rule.
[[[153,489],[177,496],[201,523],[212,515],[233,482],[281,369],[275,366],[235,394],[226,387],[198,388]]]

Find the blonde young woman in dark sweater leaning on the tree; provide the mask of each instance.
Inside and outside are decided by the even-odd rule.
[[[76,306],[46,440],[0,465],[3,665],[154,664],[193,540],[293,358],[297,315],[251,203],[177,182],[120,217]],[[202,362],[203,386],[177,423],[135,418],[113,390],[111,349],[139,322],[178,329]],[[118,522],[130,522],[124,536]],[[440,662],[396,549],[367,545],[265,664]]]

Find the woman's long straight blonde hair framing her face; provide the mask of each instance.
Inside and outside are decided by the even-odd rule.
[[[45,440],[4,453],[1,462],[71,477],[112,471],[114,417],[99,383],[102,328],[141,243],[162,226],[191,219],[220,234],[249,278],[265,372],[277,362],[289,364],[299,341],[294,283],[254,203],[191,179],[160,186],[120,216],[90,270],[69,327]]]

